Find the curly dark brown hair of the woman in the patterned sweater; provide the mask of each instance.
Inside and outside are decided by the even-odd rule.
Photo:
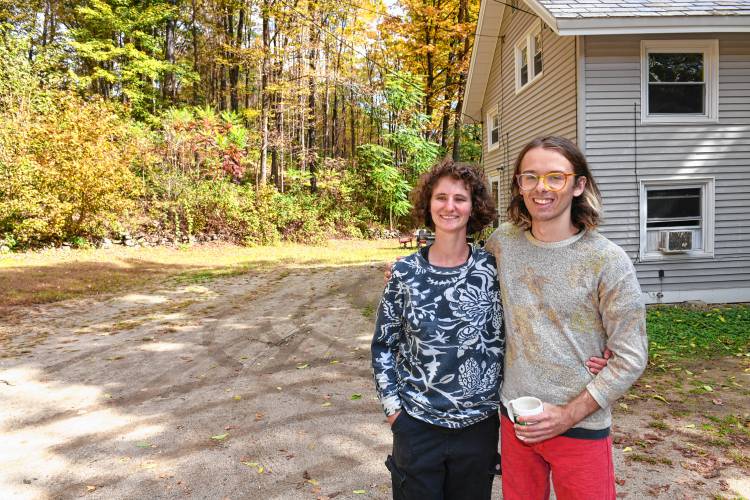
[[[466,228],[467,234],[481,231],[497,219],[495,202],[487,189],[484,172],[475,165],[457,163],[451,159],[445,159],[436,164],[419,179],[419,184],[412,192],[415,219],[423,222],[429,229],[435,230],[435,223],[430,213],[430,200],[432,200],[432,190],[443,177],[463,181],[471,193],[471,216],[469,216]]]

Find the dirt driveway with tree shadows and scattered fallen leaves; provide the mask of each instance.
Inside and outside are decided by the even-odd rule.
[[[285,267],[12,309],[0,497],[390,498],[369,367],[381,287],[380,265]],[[750,496],[747,469],[659,404],[618,410],[618,496]]]

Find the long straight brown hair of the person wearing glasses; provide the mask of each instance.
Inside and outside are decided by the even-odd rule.
[[[518,153],[516,159],[516,168],[513,172],[513,179],[510,188],[510,203],[508,204],[508,219],[514,225],[522,229],[531,229],[531,215],[523,202],[521,189],[516,182],[516,176],[521,173],[521,162],[526,153],[532,149],[542,148],[556,151],[565,157],[573,165],[573,173],[576,180],[585,177],[586,186],[580,196],[573,198],[570,216],[573,224],[578,229],[594,229],[599,225],[602,213],[602,195],[599,188],[596,187],[594,176],[591,175],[586,157],[583,155],[578,146],[571,140],[564,137],[549,135],[546,137],[537,137],[529,142]]]

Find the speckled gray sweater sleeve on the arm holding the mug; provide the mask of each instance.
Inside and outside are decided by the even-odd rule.
[[[641,376],[648,361],[646,315],[635,269],[618,249],[599,282],[599,313],[613,355],[586,389],[602,408],[611,406]]]

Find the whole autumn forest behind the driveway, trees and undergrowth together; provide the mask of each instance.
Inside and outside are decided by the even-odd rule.
[[[0,239],[244,244],[407,227],[478,0],[0,0]]]

